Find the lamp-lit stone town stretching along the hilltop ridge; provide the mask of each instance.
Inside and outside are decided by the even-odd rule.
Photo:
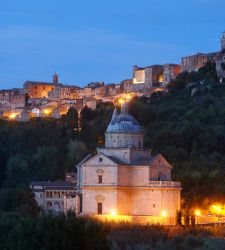
[[[81,88],[60,83],[55,73],[52,82],[26,81],[23,88],[0,91],[0,117],[28,121],[31,117],[60,118],[70,107],[81,111],[87,106],[95,109],[99,102],[113,102],[123,94],[150,96],[166,91],[182,72],[196,72],[208,62],[214,62],[219,82],[225,80],[225,32],[220,38],[220,51],[197,53],[181,58],[180,64],[133,66],[132,78],[120,83],[91,82]]]

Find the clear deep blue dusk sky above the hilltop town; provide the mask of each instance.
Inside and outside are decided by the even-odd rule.
[[[119,82],[132,65],[219,49],[224,0],[1,0],[0,88]]]

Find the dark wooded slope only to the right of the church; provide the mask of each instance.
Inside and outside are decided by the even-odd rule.
[[[174,166],[186,202],[224,198],[225,85],[205,79],[171,86],[168,93],[133,100],[130,112],[145,128],[145,145]]]

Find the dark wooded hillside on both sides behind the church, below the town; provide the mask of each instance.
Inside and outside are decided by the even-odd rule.
[[[145,129],[145,146],[171,162],[173,179],[182,182],[185,202],[193,205],[225,195],[225,85],[217,80],[215,64],[207,63],[178,75],[168,92],[130,104]],[[0,121],[0,186],[64,179],[103,145],[112,112],[111,103],[100,103],[95,110],[84,107],[79,119],[71,108],[59,120]]]

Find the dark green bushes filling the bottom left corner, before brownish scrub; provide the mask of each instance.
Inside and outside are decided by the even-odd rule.
[[[107,250],[108,226],[68,217],[19,217],[0,213],[0,249],[4,250]]]

